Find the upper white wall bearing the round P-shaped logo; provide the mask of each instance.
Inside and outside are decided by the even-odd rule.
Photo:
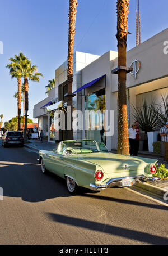
[[[136,80],[134,80],[132,74],[127,74],[127,87],[137,86],[168,76],[168,55],[164,54],[164,42],[168,40],[167,35],[168,28],[127,52],[127,66],[130,66],[134,60],[141,62],[141,68],[137,73]],[[118,66],[117,62],[117,59],[113,61],[111,70]],[[113,74],[113,92],[118,91],[117,79],[118,75]]]

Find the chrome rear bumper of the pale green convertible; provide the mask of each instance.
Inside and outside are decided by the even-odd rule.
[[[139,176],[127,176],[127,177],[119,177],[119,178],[113,178],[110,179],[108,182],[106,182],[105,184],[100,184],[100,185],[94,185],[92,183],[90,183],[90,189],[91,190],[95,190],[95,191],[99,191],[99,190],[105,190],[106,188],[109,187],[122,187],[122,180],[123,179],[127,179],[127,178],[133,178],[134,183],[131,185],[135,185],[136,183],[141,183],[142,181],[140,179],[143,179],[143,181],[158,181],[161,178],[160,177],[149,177],[147,178],[144,175],[139,175]]]

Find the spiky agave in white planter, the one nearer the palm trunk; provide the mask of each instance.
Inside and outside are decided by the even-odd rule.
[[[158,114],[160,113],[161,106],[155,105],[155,100],[147,105],[147,101],[143,100],[142,108],[136,108],[133,106],[133,117],[139,123],[139,128],[144,132],[153,132],[160,127],[160,120]]]

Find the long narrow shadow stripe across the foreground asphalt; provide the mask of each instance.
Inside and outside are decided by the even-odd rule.
[[[107,233],[110,235],[124,237],[126,239],[132,239],[152,245],[168,244],[168,238],[157,235],[151,235],[146,232],[130,230],[128,228],[116,227],[110,224],[87,221],[85,219],[79,219],[55,213],[46,213],[46,215],[49,217],[49,219],[51,219],[54,222],[67,224],[69,226],[87,228],[88,230]]]

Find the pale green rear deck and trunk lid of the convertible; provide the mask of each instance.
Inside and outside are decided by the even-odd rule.
[[[78,155],[78,159],[99,165],[105,173],[114,173],[129,168],[129,171],[144,170],[147,165],[155,164],[156,159],[124,156],[113,153],[90,153]]]

